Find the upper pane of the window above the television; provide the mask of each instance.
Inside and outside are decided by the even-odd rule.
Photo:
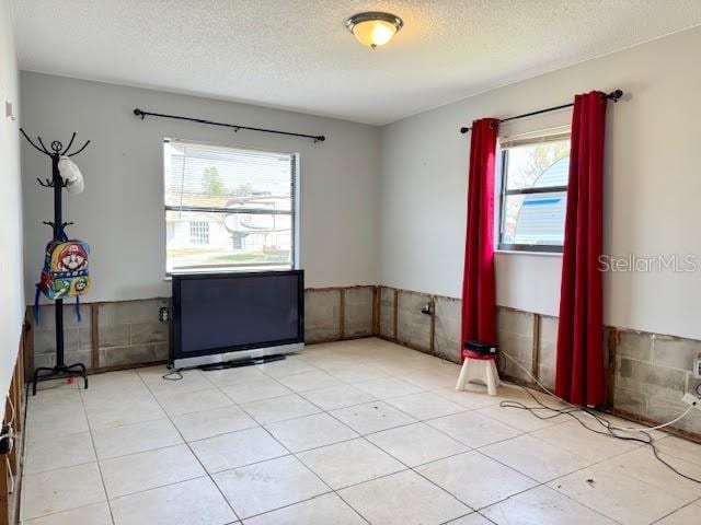
[[[291,162],[291,154],[165,142],[165,206],[290,211]]]

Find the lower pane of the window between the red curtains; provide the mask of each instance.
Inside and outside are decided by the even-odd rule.
[[[562,246],[567,194],[507,195],[502,244]]]

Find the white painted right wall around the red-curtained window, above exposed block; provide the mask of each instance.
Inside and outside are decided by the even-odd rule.
[[[387,126],[381,160],[381,282],[460,296],[469,136],[480,117],[622,89],[606,141],[605,253],[694,254],[701,262],[701,28],[466,98]],[[505,124],[514,135],[567,124],[571,112]],[[497,254],[497,302],[558,314],[561,258]],[[701,267],[605,278],[605,322],[701,339]]]

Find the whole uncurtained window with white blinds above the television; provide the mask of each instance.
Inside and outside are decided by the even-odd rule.
[[[295,267],[297,156],[166,139],[166,272]]]

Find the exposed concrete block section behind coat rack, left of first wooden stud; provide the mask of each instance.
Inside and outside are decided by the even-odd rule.
[[[66,363],[92,364],[92,322],[91,306],[81,305],[82,320],[76,318],[76,304],[69,301],[64,304],[64,355]],[[56,364],[55,336],[56,306],[39,306],[39,322],[34,318],[33,308],[28,308],[27,320],[34,335],[34,366],[54,366]]]

